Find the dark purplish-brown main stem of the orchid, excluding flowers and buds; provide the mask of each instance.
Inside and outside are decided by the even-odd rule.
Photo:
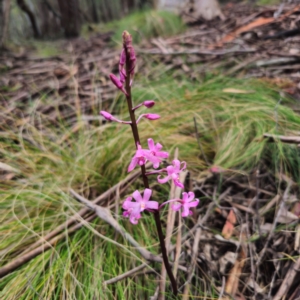
[[[134,110],[132,109],[132,96],[131,96],[130,70],[129,70],[129,66],[130,66],[129,51],[130,51],[130,49],[128,49],[126,47],[126,45],[124,45],[124,49],[126,52],[126,81],[125,81],[125,90],[127,93],[126,101],[127,101],[127,105],[128,105],[130,119],[131,119],[130,126],[131,126],[131,130],[132,130],[135,146],[137,147],[137,145],[138,144],[140,145],[141,143],[140,143],[139,131],[138,131],[138,127],[137,127]],[[149,188],[149,182],[148,182],[148,177],[146,175],[145,165],[141,166],[141,171],[142,171],[142,178],[143,178],[144,186],[145,186],[145,188]],[[159,243],[160,243],[160,248],[161,248],[161,252],[162,252],[162,256],[163,256],[164,265],[165,265],[166,271],[167,271],[168,276],[171,281],[173,294],[175,296],[177,296],[177,293],[178,293],[177,283],[176,283],[176,279],[173,275],[173,272],[172,272],[172,269],[171,269],[171,266],[169,263],[169,259],[168,259],[167,249],[165,246],[165,240],[164,240],[164,235],[162,232],[162,226],[161,226],[161,221],[160,221],[160,216],[159,216],[159,210],[155,211],[153,214],[154,214],[154,220],[155,220],[155,224],[156,224],[156,230],[157,230],[158,237],[159,237]]]

